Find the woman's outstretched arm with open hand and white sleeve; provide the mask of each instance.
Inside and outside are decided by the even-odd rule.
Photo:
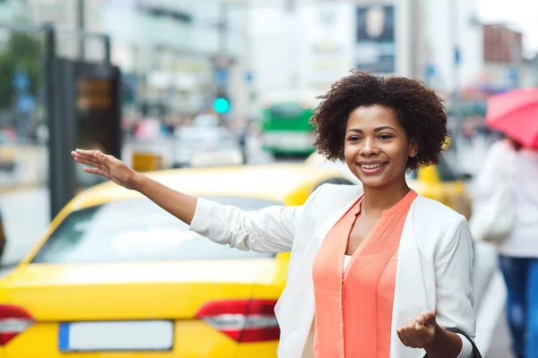
[[[72,155],[76,162],[90,166],[84,168],[85,172],[105,176],[127,189],[141,192],[189,225],[190,230],[215,243],[245,251],[291,251],[298,219],[319,191],[310,195],[302,206],[271,206],[247,212],[175,191],[99,150],[77,149]]]

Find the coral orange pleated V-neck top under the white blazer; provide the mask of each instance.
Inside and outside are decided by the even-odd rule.
[[[343,258],[362,197],[325,237],[313,278],[316,358],[389,358],[398,247],[416,192],[383,212],[347,267]]]

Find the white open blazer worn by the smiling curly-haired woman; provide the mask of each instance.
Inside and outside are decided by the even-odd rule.
[[[281,328],[278,355],[301,356],[314,318],[312,265],[338,219],[360,198],[359,185],[324,184],[298,207],[242,211],[198,199],[190,230],[239,250],[291,251],[287,285],[276,304]],[[443,328],[474,337],[473,243],[462,215],[418,196],[405,220],[398,251],[391,358],[422,358],[396,330],[423,311],[436,311]],[[368,328],[367,328],[368,329]]]

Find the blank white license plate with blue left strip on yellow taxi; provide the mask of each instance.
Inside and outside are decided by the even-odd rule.
[[[60,323],[60,352],[169,351],[174,324],[169,320]]]

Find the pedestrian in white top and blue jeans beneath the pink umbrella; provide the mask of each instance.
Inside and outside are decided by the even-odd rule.
[[[493,143],[476,178],[477,207],[493,205],[490,198],[497,196],[501,186],[507,188],[508,202],[495,205],[506,206],[499,216],[509,216],[510,226],[507,234],[498,235],[495,243],[508,289],[507,318],[512,350],[518,358],[537,358],[538,150],[525,149],[508,137]],[[502,217],[490,213],[490,220],[499,222]],[[473,220],[479,218],[472,217],[472,224]],[[474,232],[473,235],[479,236]]]

